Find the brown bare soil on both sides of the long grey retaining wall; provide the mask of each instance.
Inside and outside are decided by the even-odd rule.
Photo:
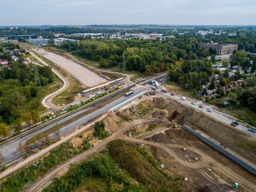
[[[149,124],[136,125],[125,132],[133,138],[140,138],[152,142],[152,149],[164,166],[180,177],[188,177],[184,186],[188,191],[254,191],[256,186],[255,175],[246,172],[243,168],[233,163],[213,148],[209,147],[198,138],[182,129],[180,125],[189,125],[198,132],[211,138],[222,147],[227,148],[236,156],[243,158],[255,165],[255,155],[244,151],[236,145],[236,141],[243,138],[243,132],[216,122],[193,109],[186,108],[179,102],[153,96],[153,99],[140,100],[140,104],[130,104],[116,115],[136,118],[140,109],[152,108],[145,119],[151,119],[151,124],[158,121],[158,130],[166,130],[166,126],[159,124],[169,120],[173,124],[166,131],[148,134]],[[141,107],[142,106],[142,107]],[[172,118],[171,118],[172,117]],[[174,125],[177,123],[178,125]],[[177,128],[174,128],[177,127]],[[130,135],[130,136],[131,136]],[[132,140],[132,138],[131,138]],[[149,145],[149,143],[147,143]],[[159,145],[160,144],[160,145]],[[186,148],[186,150],[182,150]],[[195,157],[198,160],[195,160]],[[208,169],[211,168],[211,171]],[[239,183],[239,189],[234,189],[234,183]]]

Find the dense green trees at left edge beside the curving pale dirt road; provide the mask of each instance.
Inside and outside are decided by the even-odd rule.
[[[56,79],[50,67],[37,66],[37,71],[42,88]],[[0,122],[11,125],[24,118],[28,111],[22,108],[36,97],[40,86],[35,84],[34,65],[26,65],[22,59],[10,62],[10,67],[2,67],[0,75]]]

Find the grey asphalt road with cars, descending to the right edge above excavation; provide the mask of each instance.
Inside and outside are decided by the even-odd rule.
[[[170,95],[170,92],[164,93],[161,92],[161,88],[157,89],[157,92],[162,93],[163,95],[166,95],[167,97],[170,97],[171,99],[174,100],[179,100],[179,102],[181,102],[182,104],[189,106],[191,108],[194,108],[196,111],[201,111],[202,113],[205,113],[206,115],[212,116],[212,118],[215,118],[216,120],[223,122],[227,125],[229,125],[230,127],[232,127],[232,125],[230,125],[232,122],[234,122],[234,119],[230,119],[230,116],[228,116],[225,113],[221,113],[220,111],[216,111],[213,106],[205,106],[205,104],[203,104],[202,101],[196,101],[196,100],[181,100],[180,98],[182,96],[180,95]],[[191,102],[195,102],[195,104],[191,104]],[[204,108],[199,108],[200,105],[203,105]],[[207,109],[212,109],[212,112],[207,111]],[[245,132],[246,134],[250,134],[250,136],[253,136],[256,138],[256,132],[252,132],[252,131],[248,131],[248,128],[245,127],[243,124],[240,124],[236,127],[234,127],[235,129],[238,129],[240,131]]]

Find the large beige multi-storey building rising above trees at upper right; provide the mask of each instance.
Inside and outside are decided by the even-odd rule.
[[[234,50],[237,50],[237,44],[200,44],[199,48],[201,49],[214,49],[216,51],[216,54],[230,54]]]

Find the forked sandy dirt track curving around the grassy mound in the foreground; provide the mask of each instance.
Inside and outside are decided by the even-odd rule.
[[[150,122],[150,120],[148,120],[148,122]],[[26,191],[31,191],[31,192],[41,191],[42,186],[44,186],[44,184],[46,184],[49,180],[56,177],[56,175],[59,172],[63,172],[63,170],[66,170],[67,172],[68,168],[72,165],[72,163],[80,163],[81,161],[83,161],[84,159],[92,155],[94,152],[99,152],[100,150],[102,150],[104,147],[106,147],[106,145],[108,145],[110,141],[116,140],[118,138],[128,140],[134,143],[140,143],[140,144],[143,143],[146,145],[162,148],[166,156],[171,156],[172,159],[174,158],[175,161],[179,162],[183,166],[188,168],[193,168],[195,169],[196,172],[200,174],[204,174],[205,179],[209,179],[209,182],[212,182],[212,175],[208,175],[207,173],[205,173],[205,167],[209,167],[211,165],[211,167],[214,167],[214,170],[216,171],[218,170],[218,173],[221,173],[221,175],[225,175],[226,177],[232,178],[232,180],[236,180],[236,182],[239,182],[239,185],[243,186],[243,189],[246,189],[246,191],[252,191],[256,184],[255,180],[253,180],[254,178],[253,175],[250,175],[251,176],[250,179],[249,178],[244,179],[243,177],[240,177],[238,173],[236,173],[236,168],[235,170],[230,169],[230,167],[227,168],[227,164],[220,163],[213,157],[206,155],[205,152],[199,148],[191,147],[186,144],[156,143],[154,141],[145,141],[145,140],[139,140],[136,138],[130,138],[130,137],[124,136],[123,133],[127,131],[127,129],[130,129],[131,127],[134,127],[134,125],[130,124],[127,127],[125,126],[124,129],[121,129],[120,131],[115,132],[109,138],[106,138],[104,141],[99,143],[96,147],[90,148],[90,150],[86,150],[85,152],[74,157],[73,159],[68,159],[67,161],[60,164],[59,166],[56,166],[54,170],[51,170],[51,172],[44,175],[44,177],[40,178],[35,183],[31,184],[31,186],[29,186]],[[194,153],[198,154],[200,159],[199,161],[196,161],[196,162],[187,161],[186,158],[184,158],[184,155],[182,155],[182,153],[178,154],[177,151],[174,150],[174,148],[177,148],[178,150],[180,150],[180,148],[186,148],[187,150],[193,151]],[[228,169],[228,172],[227,172],[227,169]],[[248,182],[248,180],[250,180],[250,182]],[[221,191],[227,191],[227,189],[229,189],[225,185],[223,186],[218,185],[218,188],[221,188],[222,189]]]

